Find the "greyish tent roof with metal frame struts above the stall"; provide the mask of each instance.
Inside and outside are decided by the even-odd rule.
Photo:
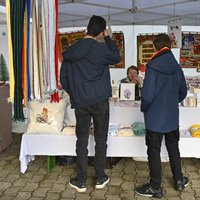
[[[41,1],[39,1],[41,2]],[[200,0],[58,0],[58,27],[84,27],[92,15],[101,15],[111,25],[167,25],[182,19],[182,25],[200,25]],[[0,0],[5,6],[5,0]]]

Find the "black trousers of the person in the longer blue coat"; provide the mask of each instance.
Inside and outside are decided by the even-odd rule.
[[[181,158],[178,147],[178,141],[180,137],[179,129],[169,133],[158,133],[146,129],[146,145],[150,170],[150,184],[154,189],[158,189],[161,186],[162,167],[160,159],[160,148],[163,135],[165,136],[165,145],[169,154],[173,179],[178,181],[183,178],[183,174],[181,172]]]

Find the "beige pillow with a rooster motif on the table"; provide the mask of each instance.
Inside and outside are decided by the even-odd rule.
[[[30,102],[30,118],[27,134],[62,134],[63,119],[67,99],[61,99],[59,103]]]

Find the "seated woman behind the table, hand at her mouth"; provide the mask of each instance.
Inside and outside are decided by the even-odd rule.
[[[139,100],[139,88],[140,80],[138,78],[139,70],[136,66],[131,65],[127,69],[127,77],[120,80],[120,83],[135,83],[135,100]]]

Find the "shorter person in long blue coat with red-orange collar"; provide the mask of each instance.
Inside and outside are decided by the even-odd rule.
[[[141,111],[146,125],[146,145],[150,169],[150,183],[135,188],[142,196],[162,198],[160,147],[163,136],[169,154],[175,189],[183,190],[188,178],[181,172],[179,141],[179,102],[187,95],[185,77],[174,58],[167,34],[159,34],[153,41],[156,52],[147,64],[142,88]]]

